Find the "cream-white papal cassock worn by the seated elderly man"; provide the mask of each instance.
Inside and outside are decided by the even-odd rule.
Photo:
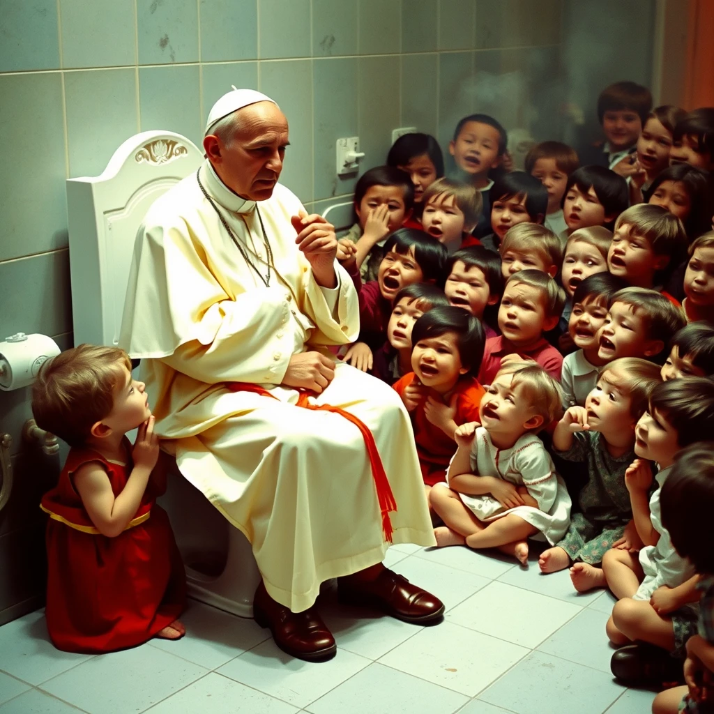
[[[256,203],[236,196],[205,161],[199,176],[263,276],[268,259]],[[246,534],[271,597],[305,610],[327,578],[382,560],[388,548],[370,461],[356,426],[294,406],[278,386],[291,356],[358,334],[357,296],[336,264],[321,288],[298,251],[290,217],[302,208],[278,184],[258,211],[273,252],[266,287],[201,193],[183,179],[139,229],[121,346],[141,358],[156,431],[178,468]],[[233,392],[257,383],[277,400]],[[408,414],[385,383],[344,363],[314,403],[368,426],[396,499],[393,543],[435,545]]]

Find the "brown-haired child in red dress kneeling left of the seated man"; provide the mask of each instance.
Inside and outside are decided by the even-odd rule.
[[[100,653],[171,640],[186,575],[166,513],[144,383],[119,348],[80,345],[42,366],[32,410],[71,446],[42,498],[47,524],[47,629],[60,650]],[[139,427],[132,447],[126,432]]]

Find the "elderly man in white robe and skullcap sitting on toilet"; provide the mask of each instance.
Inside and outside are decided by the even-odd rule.
[[[391,543],[435,545],[408,415],[396,392],[331,356],[358,302],[333,226],[278,183],[288,122],[248,89],[211,109],[206,161],[139,229],[121,344],[141,358],[156,431],[178,468],[251,542],[259,624],[319,661],[335,640],[314,607],[411,623],[438,598],[384,568]]]

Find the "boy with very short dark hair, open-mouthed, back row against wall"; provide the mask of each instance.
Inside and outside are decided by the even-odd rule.
[[[456,164],[457,177],[471,183],[483,198],[483,213],[473,231],[477,238],[488,233],[491,216],[488,190],[493,186],[489,176],[501,165],[507,146],[506,129],[488,114],[465,116],[456,125],[449,142],[448,150]]]

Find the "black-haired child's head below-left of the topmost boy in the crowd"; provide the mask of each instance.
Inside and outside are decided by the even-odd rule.
[[[603,166],[580,166],[568,177],[563,218],[568,233],[578,228],[605,226],[610,231],[628,207],[627,181]]]

